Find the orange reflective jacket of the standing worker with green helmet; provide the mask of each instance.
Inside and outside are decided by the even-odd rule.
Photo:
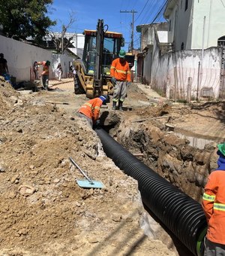
[[[124,61],[121,63],[119,58],[114,59],[110,68],[110,75],[118,81],[130,82],[130,68],[128,62]]]

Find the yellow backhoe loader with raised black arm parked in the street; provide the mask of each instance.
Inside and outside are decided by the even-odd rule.
[[[124,46],[124,38],[121,33],[107,30],[104,20],[98,20],[96,30],[85,30],[83,60],[74,62],[75,93],[86,93],[89,99],[113,93],[110,66]]]

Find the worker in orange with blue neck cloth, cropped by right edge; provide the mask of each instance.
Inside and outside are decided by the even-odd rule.
[[[208,176],[202,208],[208,223],[205,256],[225,255],[225,143],[217,145],[217,169]]]

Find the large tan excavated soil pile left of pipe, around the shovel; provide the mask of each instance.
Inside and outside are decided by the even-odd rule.
[[[0,113],[0,254],[175,255],[145,236],[137,182],[85,120],[3,80]],[[79,187],[69,157],[105,187]]]

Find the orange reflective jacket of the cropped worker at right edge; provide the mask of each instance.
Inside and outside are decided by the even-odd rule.
[[[208,223],[207,239],[225,245],[225,170],[215,170],[208,176],[202,208]]]

